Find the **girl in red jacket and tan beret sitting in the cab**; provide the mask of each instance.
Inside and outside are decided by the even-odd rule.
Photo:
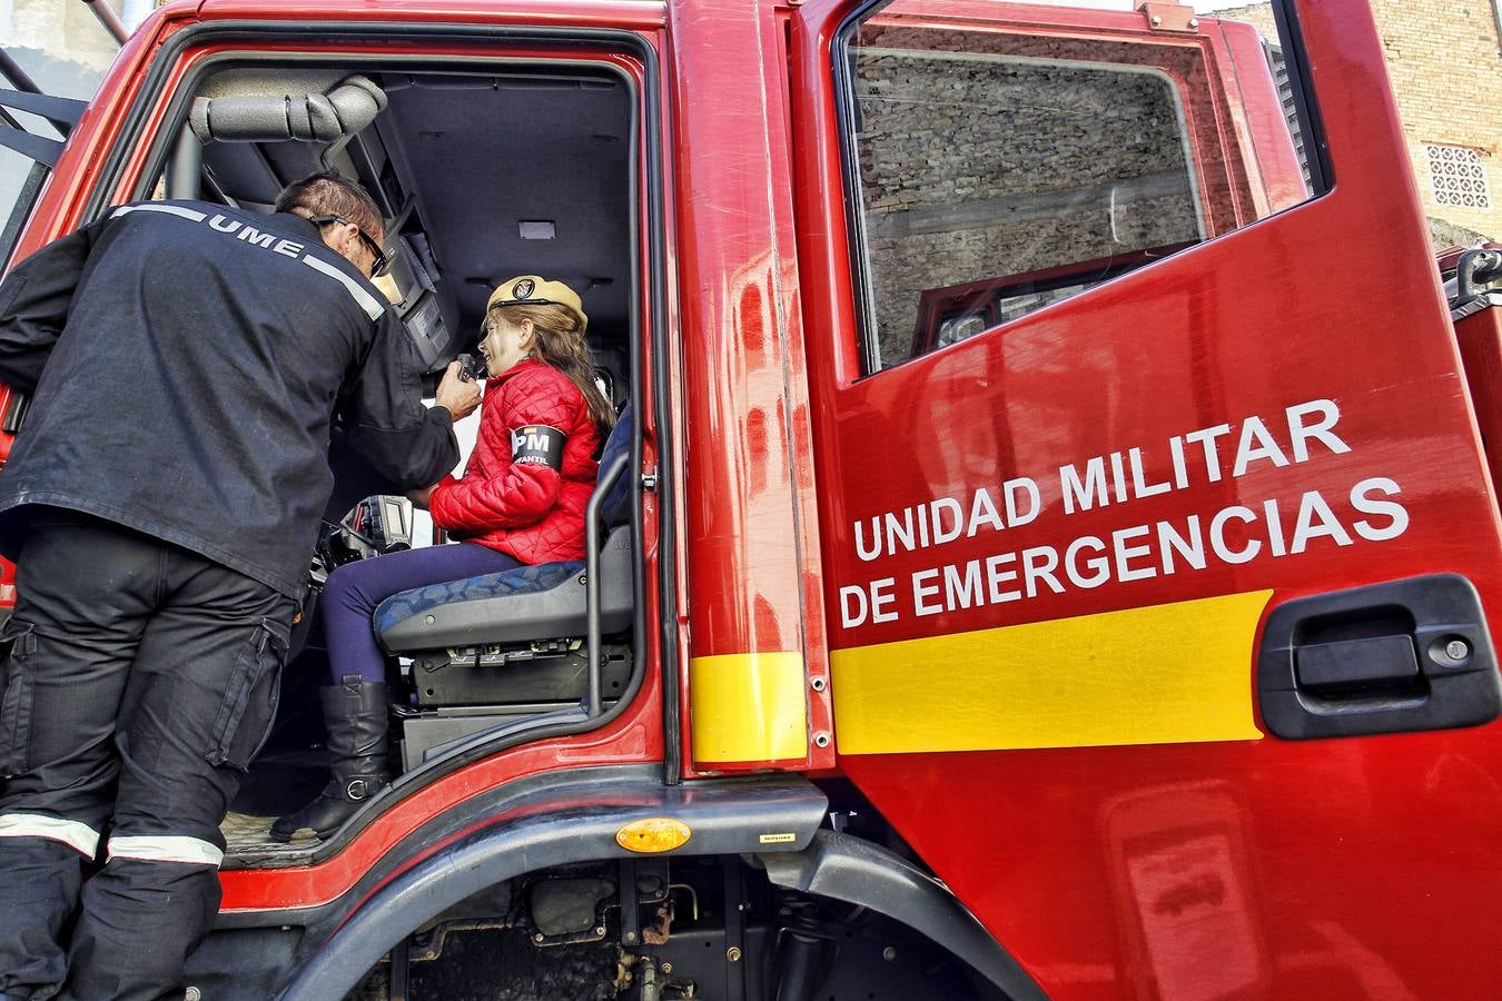
[[[303,827],[327,837],[389,782],[386,662],[371,632],[377,605],[415,587],[583,558],[595,456],[616,419],[595,384],[587,323],[562,282],[526,275],[491,293],[479,342],[490,380],[475,452],[463,477],[412,495],[458,543],[329,575],[320,611],[333,687],[320,698],[333,777],[318,798],[276,821],[272,837],[290,840]]]

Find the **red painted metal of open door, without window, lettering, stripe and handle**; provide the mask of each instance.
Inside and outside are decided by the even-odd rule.
[[[1497,513],[1364,3],[1298,5],[1334,159],[1329,195],[867,380],[831,84],[831,36],[852,6],[813,0],[795,21],[795,197],[832,648],[1263,588],[1281,603],[1427,572],[1470,578],[1502,633]],[[936,20],[999,11],[930,9]],[[1352,254],[1380,261],[1380,281],[1338,281]],[[1319,398],[1338,402],[1349,453],[1137,500],[1130,515],[1075,513],[1066,530],[1039,518],[1008,530],[1005,548],[1296,503],[1310,489],[1344,498],[1370,476],[1401,483],[1412,524],[1400,539],[1045,591],[921,624],[838,624],[838,587],[873,576],[856,557],[861,518]],[[1164,462],[1149,458],[1149,471]],[[1057,510],[1059,498],[1045,503]],[[976,552],[960,542],[943,557],[898,554],[885,572],[903,579]],[[1047,671],[1054,653],[991,669]],[[1248,687],[1253,677],[1248,663]],[[1502,978],[1497,725],[846,755],[841,768],[1059,996],[1467,996]]]

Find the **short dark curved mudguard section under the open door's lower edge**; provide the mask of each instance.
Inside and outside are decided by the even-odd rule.
[[[927,935],[1009,998],[1048,996],[949,890],[880,845],[820,830],[808,848],[760,861],[778,885],[856,903]]]

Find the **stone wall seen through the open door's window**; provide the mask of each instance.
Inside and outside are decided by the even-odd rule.
[[[883,365],[912,353],[927,290],[1199,236],[1167,80],[1017,56],[910,54],[898,50],[927,48],[922,39],[897,35],[864,36],[856,59]]]

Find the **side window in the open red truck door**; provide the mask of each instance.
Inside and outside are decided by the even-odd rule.
[[[936,27],[898,0],[843,36],[867,374],[1316,192],[1271,18],[993,6]]]

